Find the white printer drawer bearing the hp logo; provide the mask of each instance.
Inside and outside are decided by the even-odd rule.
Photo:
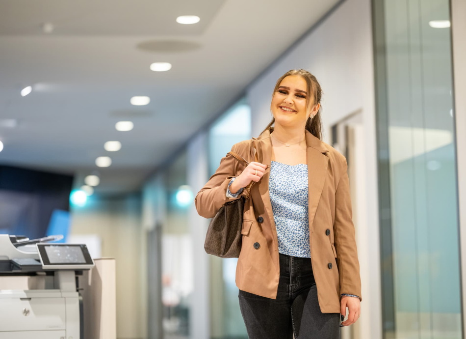
[[[64,298],[0,299],[0,338],[9,331],[65,330],[65,321]]]

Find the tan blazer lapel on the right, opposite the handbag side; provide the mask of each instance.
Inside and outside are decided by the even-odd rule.
[[[325,155],[329,150],[324,143],[311,133],[306,131],[307,162],[308,162],[308,208],[309,208],[309,227],[312,230],[314,223],[315,211],[319,204],[320,196],[324,188],[325,178],[327,176],[327,168],[329,158]]]

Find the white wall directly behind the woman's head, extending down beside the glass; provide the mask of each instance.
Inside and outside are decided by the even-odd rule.
[[[271,120],[270,99],[276,80],[289,69],[304,68],[322,86],[324,141],[328,128],[356,111],[362,111],[365,194],[353,201],[365,210],[360,216],[357,241],[362,276],[360,338],[381,338],[380,248],[377,196],[374,68],[370,0],[344,1],[289,53],[247,90],[252,108],[253,136]],[[359,187],[362,189],[362,187]],[[361,208],[363,206],[363,208]],[[361,254],[366,254],[362,256]]]

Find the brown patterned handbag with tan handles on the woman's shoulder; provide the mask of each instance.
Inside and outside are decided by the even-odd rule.
[[[228,152],[227,154],[249,165],[249,162],[239,154],[234,152]],[[239,253],[241,252],[241,227],[243,224],[244,203],[249,199],[251,187],[254,183],[252,181],[245,188],[245,190],[248,190],[246,198],[241,196],[239,199],[225,203],[220,207],[215,217],[210,220],[206,241],[204,242],[204,249],[208,254],[221,258],[239,257]]]

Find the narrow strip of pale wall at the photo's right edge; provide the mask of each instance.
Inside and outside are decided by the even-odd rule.
[[[451,0],[455,122],[458,161],[461,262],[463,282],[463,322],[466,322],[466,1]]]

